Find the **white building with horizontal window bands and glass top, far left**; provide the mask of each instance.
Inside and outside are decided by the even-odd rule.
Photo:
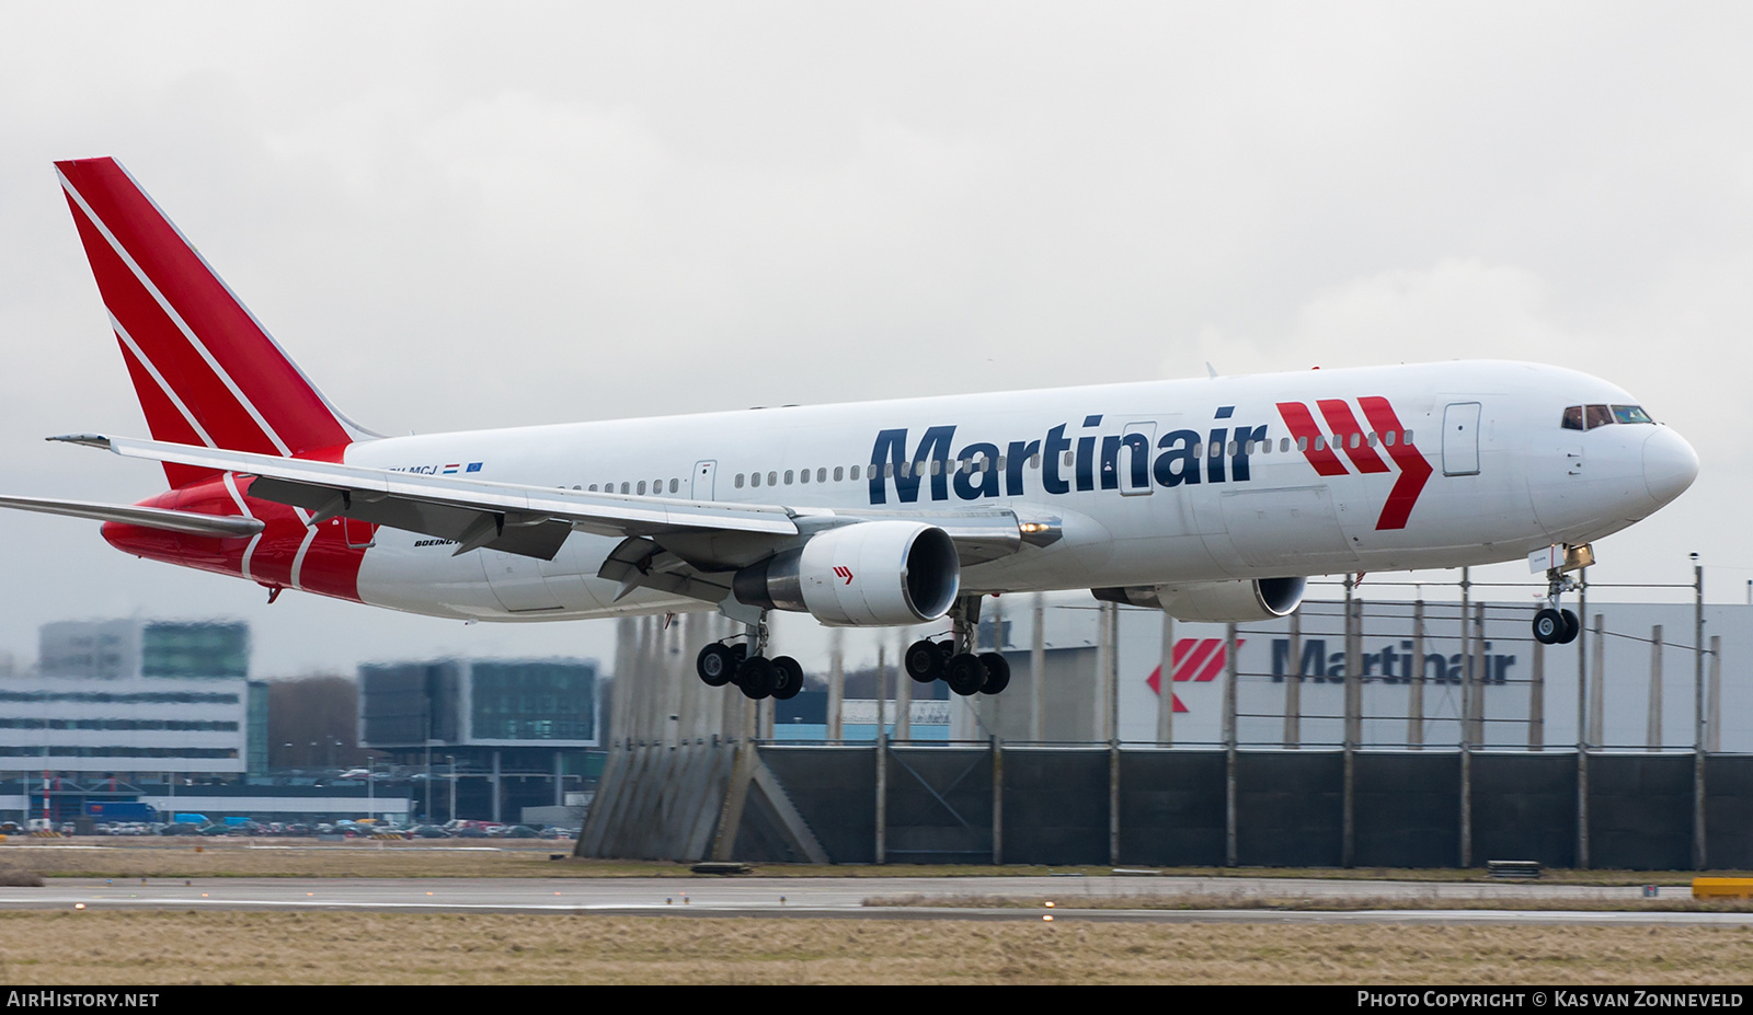
[[[240,621],[44,624],[35,673],[0,678],[0,817],[68,822],[116,801],[163,820],[405,819],[405,785],[272,777],[268,692],[249,666]]]

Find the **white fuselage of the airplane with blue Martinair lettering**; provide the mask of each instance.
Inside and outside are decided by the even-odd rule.
[[[354,444],[345,463],[794,512],[1055,519],[1052,545],[962,571],[964,591],[1015,593],[1446,568],[1586,543],[1697,470],[1664,426],[1562,428],[1590,403],[1636,400],[1555,366],[1434,363],[398,437]],[[596,573],[617,542],[573,531],[540,561],[452,556],[380,528],[358,589],[493,621],[712,608],[650,589],[615,601]]]

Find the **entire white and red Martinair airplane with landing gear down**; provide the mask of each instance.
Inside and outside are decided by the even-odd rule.
[[[983,596],[1090,589],[1183,619],[1281,617],[1309,575],[1546,570],[1541,642],[1592,543],[1679,496],[1692,447],[1623,389],[1534,363],[1427,363],[382,437],[342,414],[114,160],[56,163],[163,465],[116,549],[479,621],[717,610],[712,685],[789,698],[770,610],[948,621],[917,680],[996,694]]]

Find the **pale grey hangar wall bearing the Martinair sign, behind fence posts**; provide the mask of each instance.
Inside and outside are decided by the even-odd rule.
[[[1485,610],[1483,645],[1471,643],[1480,666],[1485,733],[1483,747],[1525,749],[1529,715],[1534,712],[1536,643],[1529,635],[1529,603],[1494,603]],[[1301,645],[1292,643],[1290,621],[1243,624],[1238,629],[1238,738],[1243,745],[1281,745],[1288,685],[1301,699],[1302,747],[1338,745],[1345,715],[1345,621],[1339,603],[1309,601],[1302,607]],[[1020,612],[1018,612],[1020,614]],[[1059,614],[1061,617],[1054,617]],[[1690,603],[1590,603],[1585,635],[1571,645],[1544,645],[1541,661],[1541,740],[1546,745],[1576,743],[1578,650],[1588,652],[1595,670],[1593,617],[1604,617],[1600,640],[1602,719],[1600,743],[1643,749],[1648,740],[1651,628],[1662,624],[1662,722],[1664,747],[1690,747],[1693,740],[1693,607]],[[1027,615],[1010,615],[1011,650],[1026,652],[1031,635]],[[1094,645],[1092,610],[1052,610],[1048,645]],[[1120,612],[1120,736],[1150,742],[1157,729],[1160,689],[1162,621],[1153,610]],[[1753,682],[1742,678],[1753,661],[1753,608],[1707,605],[1704,638],[1721,638],[1721,699],[1707,705],[1721,715],[1720,749],[1753,752]],[[1087,628],[1087,629],[1085,629]],[[1180,745],[1222,742],[1224,680],[1227,652],[1222,624],[1175,624],[1173,689],[1175,742]],[[1413,631],[1411,603],[1371,601],[1366,605],[1362,657],[1364,743],[1401,747],[1408,743],[1408,713],[1413,687],[1422,689],[1423,743],[1460,742],[1458,715],[1467,661],[1464,657],[1458,603],[1427,603],[1422,652]],[[1706,675],[1711,661],[1706,656]],[[1301,680],[1292,680],[1301,677]],[[1592,678],[1593,680],[1593,678]],[[1709,691],[1707,691],[1709,694]],[[1593,743],[1593,740],[1592,740]]]

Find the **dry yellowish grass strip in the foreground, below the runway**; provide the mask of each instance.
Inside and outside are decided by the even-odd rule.
[[[0,912],[11,983],[1753,982],[1746,927]]]

